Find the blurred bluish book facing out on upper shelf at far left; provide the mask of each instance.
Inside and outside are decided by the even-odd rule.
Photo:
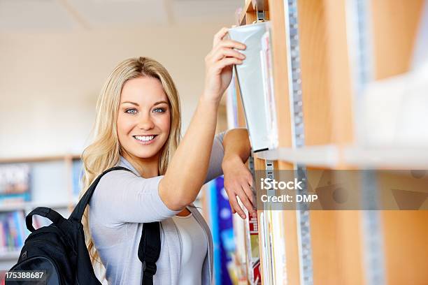
[[[27,163],[0,165],[0,205],[30,200],[30,171]]]

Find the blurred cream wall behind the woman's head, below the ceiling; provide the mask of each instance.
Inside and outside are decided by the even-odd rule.
[[[119,61],[140,55],[171,73],[185,129],[203,89],[204,57],[221,27],[0,34],[0,158],[80,153],[104,80]]]

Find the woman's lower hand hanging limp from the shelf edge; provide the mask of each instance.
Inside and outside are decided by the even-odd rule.
[[[257,215],[257,210],[253,206],[252,194],[252,175],[247,166],[243,163],[241,157],[224,157],[223,163],[224,189],[229,197],[229,203],[232,213],[238,213],[242,219],[245,219],[245,212],[238,204],[236,196],[239,197],[248,213],[252,216]]]

